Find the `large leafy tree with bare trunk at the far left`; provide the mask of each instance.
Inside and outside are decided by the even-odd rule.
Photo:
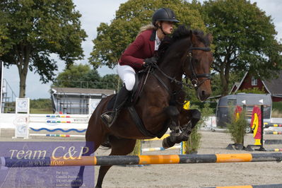
[[[10,44],[1,60],[15,64],[20,76],[20,98],[25,97],[25,80],[30,71],[40,74],[40,81],[54,80],[57,54],[70,66],[82,59],[81,42],[87,37],[81,29],[81,14],[71,0],[4,0],[0,1],[0,25],[7,30],[4,44]]]

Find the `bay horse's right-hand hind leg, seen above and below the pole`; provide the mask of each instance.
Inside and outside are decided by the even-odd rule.
[[[110,139],[110,143],[112,145],[112,151],[110,155],[127,155],[134,150],[134,146],[136,140],[132,139]],[[96,188],[102,187],[102,180],[104,180],[107,171],[112,167],[112,165],[101,166],[99,169],[98,180],[96,184]]]

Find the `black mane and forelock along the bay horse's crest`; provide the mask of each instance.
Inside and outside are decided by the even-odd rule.
[[[166,36],[162,42],[160,43],[160,47],[158,48],[158,57],[159,59],[162,59],[165,55],[165,52],[167,49],[174,44],[175,42],[182,40],[186,37],[190,37],[191,32],[196,35],[197,39],[206,45],[208,47],[210,45],[210,41],[208,40],[208,37],[204,35],[204,32],[201,30],[191,30],[189,26],[180,25],[175,30],[175,32],[172,34],[172,37]]]

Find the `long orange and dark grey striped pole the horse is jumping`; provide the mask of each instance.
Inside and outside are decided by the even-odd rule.
[[[59,158],[59,157],[58,157]],[[112,155],[82,156],[76,159],[43,158],[18,159],[0,158],[0,167],[47,167],[47,166],[92,166],[92,165],[155,165],[181,163],[242,163],[242,162],[281,162],[282,153],[232,153],[205,155]]]

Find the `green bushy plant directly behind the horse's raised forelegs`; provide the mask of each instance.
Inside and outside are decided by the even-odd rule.
[[[199,107],[196,105],[192,105],[190,109],[199,109]],[[185,145],[187,154],[195,153],[198,151],[201,143],[201,133],[200,133],[201,126],[204,124],[204,121],[208,119],[208,116],[211,116],[211,114],[213,114],[213,109],[210,107],[210,104],[207,102],[204,103],[204,108],[202,108],[200,111],[201,111],[201,119],[196,124],[194,129],[192,129],[192,133],[190,134],[187,144]]]

